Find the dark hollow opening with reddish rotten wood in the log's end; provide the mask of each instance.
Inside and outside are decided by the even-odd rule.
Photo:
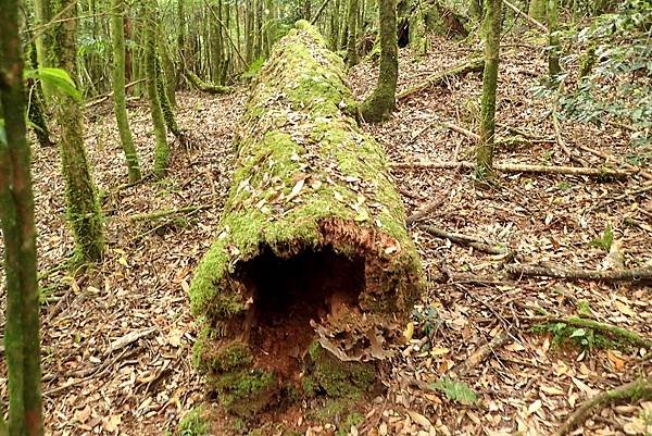
[[[267,248],[240,265],[235,276],[253,301],[243,331],[254,366],[296,381],[315,338],[311,321],[358,307],[365,288],[364,267],[362,257],[336,253],[330,246],[288,259]]]

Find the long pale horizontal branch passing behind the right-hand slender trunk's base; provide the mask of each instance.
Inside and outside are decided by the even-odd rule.
[[[474,170],[473,162],[396,162],[392,169],[408,170]],[[629,177],[632,172],[610,169],[589,169],[584,166],[552,166],[552,165],[525,165],[517,163],[496,163],[493,170],[502,173],[532,173],[532,174],[565,174],[589,177]]]

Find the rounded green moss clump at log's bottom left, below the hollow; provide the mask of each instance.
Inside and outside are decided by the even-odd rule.
[[[212,377],[226,411],[251,418],[266,409],[278,393],[273,373],[260,370],[239,370]]]

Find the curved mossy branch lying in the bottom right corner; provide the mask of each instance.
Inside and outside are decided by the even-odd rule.
[[[625,401],[638,401],[652,399],[652,377],[641,377],[634,382],[618,386],[615,389],[600,393],[581,406],[566,419],[556,431],[555,436],[565,436],[575,427],[589,418],[591,410],[607,404],[616,404]]]

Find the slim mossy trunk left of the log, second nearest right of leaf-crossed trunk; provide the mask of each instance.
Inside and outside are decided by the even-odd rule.
[[[158,1],[146,0],[142,2],[146,28],[145,28],[145,76],[147,78],[147,96],[154,126],[154,169],[156,177],[164,177],[167,174],[170,165],[170,146],[167,144],[167,134],[165,132],[165,119],[161,109],[161,99],[159,98],[159,86],[156,82],[156,38],[158,38]],[[165,92],[163,90],[163,92]]]

